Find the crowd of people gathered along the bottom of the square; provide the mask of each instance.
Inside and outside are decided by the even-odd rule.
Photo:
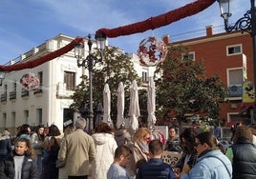
[[[237,125],[233,144],[223,149],[210,131],[168,129],[166,142],[154,139],[152,130],[139,128],[131,135],[121,126],[99,123],[85,131],[78,118],[65,127],[28,124],[11,137],[0,134],[0,178],[13,179],[219,179],[256,178],[255,129]],[[165,151],[181,153],[175,166],[167,164]]]

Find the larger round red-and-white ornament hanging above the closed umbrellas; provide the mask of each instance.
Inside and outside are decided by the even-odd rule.
[[[167,46],[160,38],[148,37],[139,43],[139,61],[146,66],[157,66],[164,61],[166,54]]]

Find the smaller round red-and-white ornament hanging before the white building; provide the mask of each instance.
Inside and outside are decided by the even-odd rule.
[[[39,87],[40,81],[37,78],[37,76],[33,73],[30,74],[24,74],[21,78],[20,78],[20,84],[24,89],[27,90],[33,90],[33,89],[37,89]]]

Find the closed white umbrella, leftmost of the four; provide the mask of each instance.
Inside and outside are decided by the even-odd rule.
[[[111,118],[110,118],[110,89],[109,85],[105,84],[104,90],[103,90],[103,122],[111,124]]]

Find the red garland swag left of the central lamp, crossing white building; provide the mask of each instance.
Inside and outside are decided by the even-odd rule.
[[[68,44],[67,46],[59,49],[59,50],[55,50],[45,56],[39,57],[37,59],[33,59],[30,60],[28,62],[25,63],[17,63],[11,66],[0,66],[0,70],[4,70],[4,71],[12,71],[12,70],[23,70],[23,69],[32,69],[34,67],[37,67],[41,64],[44,64],[50,60],[53,60],[54,58],[69,52],[70,50],[73,50],[75,47],[75,44],[79,43],[79,42],[83,42],[83,38],[82,37],[76,37],[70,44]]]

